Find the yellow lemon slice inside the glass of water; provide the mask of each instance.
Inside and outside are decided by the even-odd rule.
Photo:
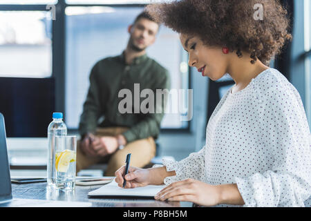
[[[75,162],[75,152],[65,150],[55,153],[55,169],[58,172],[66,173],[70,162]]]

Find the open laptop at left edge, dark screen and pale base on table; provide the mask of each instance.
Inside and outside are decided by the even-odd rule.
[[[22,185],[22,184],[21,184]],[[14,207],[87,207],[91,202],[66,202],[59,200],[33,200],[12,197],[10,164],[6,146],[6,127],[0,113],[0,206]]]

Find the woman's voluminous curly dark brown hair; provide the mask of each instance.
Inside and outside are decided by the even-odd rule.
[[[255,4],[263,19],[254,19]],[[238,57],[248,52],[269,65],[292,39],[288,11],[277,0],[181,0],[145,8],[159,23],[186,35],[196,35],[207,46],[227,46]]]

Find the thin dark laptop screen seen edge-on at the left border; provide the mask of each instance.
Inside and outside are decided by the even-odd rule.
[[[10,166],[6,149],[6,129],[0,113],[0,202],[12,199]]]

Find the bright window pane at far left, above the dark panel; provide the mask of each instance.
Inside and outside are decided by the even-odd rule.
[[[50,12],[2,11],[0,18],[0,77],[52,75]]]

